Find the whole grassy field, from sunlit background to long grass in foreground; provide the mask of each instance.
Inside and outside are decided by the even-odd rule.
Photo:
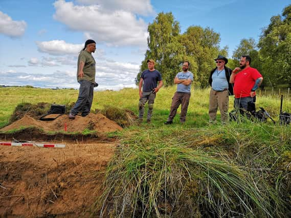
[[[290,126],[270,119],[209,125],[209,89],[192,90],[186,124],[180,125],[177,114],[165,126],[174,92],[175,87],[158,92],[151,124],[114,133],[120,145],[96,211],[130,217],[290,216]],[[69,104],[77,95],[78,90],[1,88],[0,127],[19,103]],[[138,114],[138,101],[137,89],[95,92],[92,110],[114,106]],[[279,93],[258,92],[256,105],[278,121]],[[283,110],[291,112],[286,94]]]

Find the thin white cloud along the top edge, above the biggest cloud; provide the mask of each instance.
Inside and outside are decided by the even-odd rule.
[[[104,11],[129,11],[140,15],[153,15],[154,10],[150,0],[78,0],[81,4],[99,5]]]

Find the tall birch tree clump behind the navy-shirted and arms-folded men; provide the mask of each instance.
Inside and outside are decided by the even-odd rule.
[[[148,26],[148,50],[136,78],[138,84],[141,72],[147,68],[147,59],[156,61],[155,68],[162,74],[165,85],[173,85],[177,72],[184,61],[190,62],[189,70],[194,74],[194,83],[208,86],[210,70],[215,67],[218,54],[227,55],[228,47],[219,50],[220,35],[210,28],[189,27],[180,34],[179,22],[172,13],[159,13]]]

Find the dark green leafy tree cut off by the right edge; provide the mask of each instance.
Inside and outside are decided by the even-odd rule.
[[[285,83],[291,87],[291,5],[283,9],[282,15],[270,19],[258,47],[263,71],[272,84]]]

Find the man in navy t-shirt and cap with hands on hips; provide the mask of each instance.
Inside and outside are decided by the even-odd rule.
[[[139,122],[143,122],[144,107],[148,101],[148,112],[147,112],[147,123],[150,123],[153,103],[155,99],[156,92],[163,86],[162,75],[156,69],[154,69],[154,60],[147,60],[148,69],[144,70],[141,75],[141,80],[139,83]],[[158,87],[157,87],[157,84]],[[143,90],[142,90],[143,87]]]

